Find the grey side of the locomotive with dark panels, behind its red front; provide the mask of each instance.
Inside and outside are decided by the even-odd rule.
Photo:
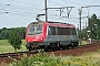
[[[61,45],[67,45],[79,42],[76,28],[48,26],[47,35],[44,42],[48,43],[59,42]]]

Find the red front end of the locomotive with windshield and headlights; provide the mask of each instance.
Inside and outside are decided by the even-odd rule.
[[[27,41],[27,48],[36,50],[39,45],[42,44],[44,40],[43,35],[43,23],[40,22],[32,22],[27,28],[26,41]]]

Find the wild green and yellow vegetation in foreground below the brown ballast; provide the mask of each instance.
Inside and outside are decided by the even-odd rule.
[[[23,55],[20,61],[13,59],[9,66],[100,66],[100,57],[94,54],[56,57],[54,55],[39,53],[30,57]]]

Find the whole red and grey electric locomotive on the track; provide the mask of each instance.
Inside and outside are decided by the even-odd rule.
[[[60,22],[31,22],[26,33],[27,48],[64,48],[79,44],[76,26]]]

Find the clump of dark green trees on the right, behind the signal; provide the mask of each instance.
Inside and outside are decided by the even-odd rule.
[[[100,40],[100,19],[96,14],[89,18],[88,26],[82,30],[82,35],[88,38],[87,31],[90,31],[89,37],[92,40]]]

